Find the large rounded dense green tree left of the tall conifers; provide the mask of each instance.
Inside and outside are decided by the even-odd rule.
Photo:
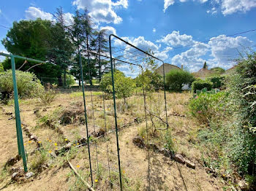
[[[46,60],[48,51],[53,46],[52,30],[53,23],[50,20],[20,20],[14,22],[12,28],[7,32],[7,36],[1,41],[8,52],[29,58]],[[44,63],[31,69],[34,63],[15,59],[16,68],[21,71],[33,72],[40,77],[58,77],[61,67],[52,63]],[[4,69],[10,69],[10,59],[3,61]],[[21,67],[22,66],[22,67]]]

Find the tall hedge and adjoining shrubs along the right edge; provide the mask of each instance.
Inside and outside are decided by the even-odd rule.
[[[238,171],[249,184],[256,183],[255,84],[254,53],[238,61],[236,72],[225,80],[226,90],[201,93],[189,103],[192,116],[209,125],[197,135],[206,165],[224,176]]]

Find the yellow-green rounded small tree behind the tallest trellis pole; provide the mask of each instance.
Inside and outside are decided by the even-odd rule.
[[[106,93],[113,92],[111,72],[104,74],[100,82],[100,88]],[[125,77],[121,71],[114,72],[115,91],[117,98],[128,98],[135,90],[135,81],[131,77]]]

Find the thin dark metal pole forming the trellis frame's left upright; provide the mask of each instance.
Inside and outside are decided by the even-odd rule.
[[[89,132],[88,132],[88,122],[87,122],[87,114],[86,114],[86,95],[84,93],[84,86],[83,86],[83,66],[82,66],[82,58],[81,53],[79,51],[79,64],[80,64],[80,77],[82,82],[82,90],[83,90],[83,107],[84,107],[84,116],[86,117],[86,136],[87,136],[87,144],[88,144],[88,154],[89,154],[89,164],[90,164],[90,173],[91,173],[91,187],[94,185],[92,179],[92,170],[91,170],[91,152],[90,152],[90,141],[89,141]]]

